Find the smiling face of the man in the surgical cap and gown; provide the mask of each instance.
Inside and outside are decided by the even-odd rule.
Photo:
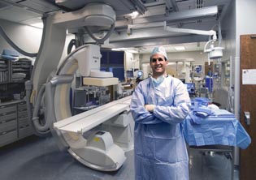
[[[164,75],[167,70],[167,64],[168,62],[162,54],[154,54],[150,59],[153,76]]]

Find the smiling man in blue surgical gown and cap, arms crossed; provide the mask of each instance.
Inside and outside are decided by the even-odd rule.
[[[132,94],[136,180],[189,179],[181,129],[189,114],[189,93],[180,79],[167,75],[167,64],[165,49],[154,48],[150,57],[153,75]]]

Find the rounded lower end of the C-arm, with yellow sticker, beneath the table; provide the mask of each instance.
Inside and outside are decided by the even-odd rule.
[[[106,131],[90,135],[85,148],[69,148],[68,152],[80,163],[101,171],[115,171],[126,160],[124,150],[113,143],[111,134]]]

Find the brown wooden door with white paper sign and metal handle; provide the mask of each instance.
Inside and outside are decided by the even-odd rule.
[[[256,34],[242,35],[240,45],[240,120],[252,139],[249,147],[240,151],[240,179],[253,180],[256,179],[256,77],[254,77],[254,71],[256,71]],[[251,75],[249,83],[245,83],[245,81],[243,83],[243,70],[250,70],[252,73],[249,74]],[[249,112],[250,115],[249,125],[245,123],[245,111]]]

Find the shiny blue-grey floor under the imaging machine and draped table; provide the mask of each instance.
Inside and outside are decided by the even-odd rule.
[[[3,180],[133,180],[133,151],[116,172],[89,169],[69,153],[60,152],[52,137],[30,136],[0,148],[0,174]],[[231,161],[222,153],[189,152],[190,180],[231,179]],[[238,180],[235,171],[234,180]]]

